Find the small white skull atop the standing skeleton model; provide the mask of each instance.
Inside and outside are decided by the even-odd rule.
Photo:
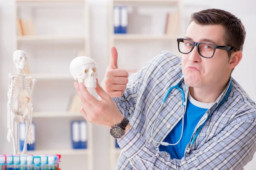
[[[13,53],[13,61],[15,62],[17,69],[25,69],[26,68],[26,52],[22,50],[16,50]]]

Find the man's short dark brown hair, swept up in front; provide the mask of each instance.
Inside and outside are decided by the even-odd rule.
[[[235,47],[238,51],[243,51],[246,32],[241,20],[230,12],[221,9],[206,9],[195,12],[190,17],[189,24],[194,21],[196,24],[221,25],[225,29],[224,42],[227,46]],[[228,52],[228,56],[232,51]]]

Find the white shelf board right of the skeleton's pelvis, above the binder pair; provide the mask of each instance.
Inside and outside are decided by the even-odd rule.
[[[75,112],[34,112],[33,118],[44,118],[44,117],[82,117],[81,113]]]

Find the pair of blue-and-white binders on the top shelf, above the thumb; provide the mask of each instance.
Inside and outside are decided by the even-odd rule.
[[[128,27],[128,9],[127,6],[114,6],[113,26],[115,34],[126,34]]]

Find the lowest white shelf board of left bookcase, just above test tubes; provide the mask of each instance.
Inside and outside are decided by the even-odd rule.
[[[21,152],[19,151],[19,154]],[[27,154],[32,155],[87,155],[89,154],[88,149],[69,149],[69,150],[28,150]]]

